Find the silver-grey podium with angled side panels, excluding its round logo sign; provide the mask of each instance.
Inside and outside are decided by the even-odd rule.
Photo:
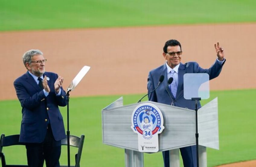
[[[179,148],[196,145],[195,111],[167,104],[145,101],[123,106],[120,97],[102,109],[104,144],[125,149],[126,167],[143,167],[143,153],[138,150],[138,135],[131,129],[133,110],[142,103],[157,106],[163,115],[165,129],[158,135],[159,151],[170,150],[170,166],[179,167]],[[199,165],[207,166],[206,147],[219,150],[217,97],[198,110]]]

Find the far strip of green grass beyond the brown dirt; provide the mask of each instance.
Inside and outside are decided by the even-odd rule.
[[[255,21],[254,0],[0,1],[0,31]]]

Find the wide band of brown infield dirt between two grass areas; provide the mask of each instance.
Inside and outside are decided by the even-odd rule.
[[[183,63],[203,68],[216,60],[214,43],[220,42],[227,61],[211,90],[256,88],[255,29],[248,23],[0,32],[0,100],[17,99],[13,81],[26,72],[21,57],[30,49],[43,51],[46,71],[63,76],[65,90],[83,66],[91,66],[72,96],[146,93],[148,72],[165,63],[162,48],[169,39],[181,42]]]

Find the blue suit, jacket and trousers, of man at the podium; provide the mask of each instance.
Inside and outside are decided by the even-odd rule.
[[[226,60],[225,60],[226,61]],[[179,69],[178,69],[178,89],[176,98],[172,95],[170,89],[168,89],[168,92],[166,91],[167,86],[167,67],[166,64],[159,66],[158,68],[151,70],[149,72],[148,76],[148,92],[155,89],[159,82],[159,77],[163,75],[164,81],[159,85],[158,89],[151,94],[149,94],[149,101],[155,101],[158,103],[168,104],[171,105],[172,99],[174,101],[174,106],[188,108],[188,109],[195,109],[195,102],[191,100],[184,99],[184,88],[183,88],[183,76],[185,73],[208,73],[210,76],[210,79],[216,78],[219,76],[222,66],[224,62],[220,64],[219,62],[216,62],[209,68],[209,69],[203,69],[201,68],[198,63],[196,62],[188,62],[185,64],[180,63]],[[172,99],[171,99],[172,98]],[[198,104],[198,108],[200,108],[200,103]],[[196,167],[196,147],[190,146],[190,147],[183,147],[180,149],[184,167]],[[163,152],[163,158],[164,158],[164,164],[165,167],[169,167],[169,151]]]

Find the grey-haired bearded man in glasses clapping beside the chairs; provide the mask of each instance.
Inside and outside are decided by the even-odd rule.
[[[66,138],[59,106],[66,106],[63,78],[45,72],[46,59],[40,50],[23,55],[27,73],[14,81],[22,107],[20,142],[26,143],[30,167],[59,167],[61,139]]]

